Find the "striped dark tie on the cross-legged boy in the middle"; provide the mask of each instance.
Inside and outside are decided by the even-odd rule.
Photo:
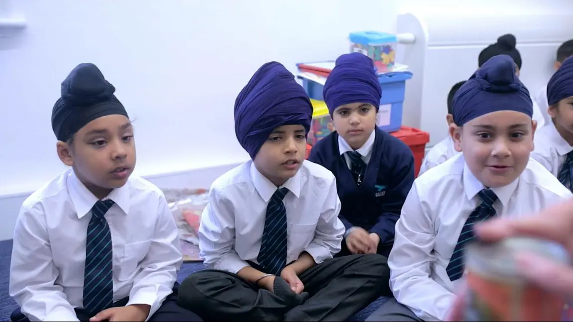
[[[286,209],[282,202],[286,193],[288,189],[281,188],[270,197],[269,205],[266,206],[261,250],[257,256],[263,272],[276,276],[286,266]]]

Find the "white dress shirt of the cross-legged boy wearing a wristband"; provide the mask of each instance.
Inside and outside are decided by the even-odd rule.
[[[286,262],[308,252],[320,263],[340,252],[344,225],[332,172],[305,160],[282,186],[287,221]],[[252,161],[220,176],[209,191],[201,215],[199,255],[215,269],[237,273],[247,261],[257,263],[266,206],[277,190]],[[257,263],[258,264],[258,263]]]

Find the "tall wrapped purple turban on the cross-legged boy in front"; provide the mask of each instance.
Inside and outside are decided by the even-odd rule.
[[[235,101],[235,134],[252,159],[275,128],[301,124],[308,132],[311,121],[307,93],[276,61],[262,65]]]

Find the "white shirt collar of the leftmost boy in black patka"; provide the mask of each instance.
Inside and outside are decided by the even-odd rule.
[[[73,170],[68,174],[68,193],[76,210],[77,218],[87,215],[98,201],[96,196],[77,178]],[[129,211],[129,187],[127,183],[123,187],[113,189],[105,199],[111,199],[127,214]]]

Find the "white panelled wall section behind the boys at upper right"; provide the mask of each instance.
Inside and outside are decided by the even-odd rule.
[[[481,50],[499,36],[516,36],[523,60],[520,78],[533,96],[545,91],[559,45],[573,38],[570,0],[504,0],[496,5],[481,0],[479,4],[469,1],[469,8],[439,2],[410,6],[412,14],[399,15],[397,23],[397,32],[417,36],[415,44],[398,46],[401,61],[414,73],[407,84],[403,122],[430,133],[426,147],[448,135],[445,116],[450,88],[476,70]]]

